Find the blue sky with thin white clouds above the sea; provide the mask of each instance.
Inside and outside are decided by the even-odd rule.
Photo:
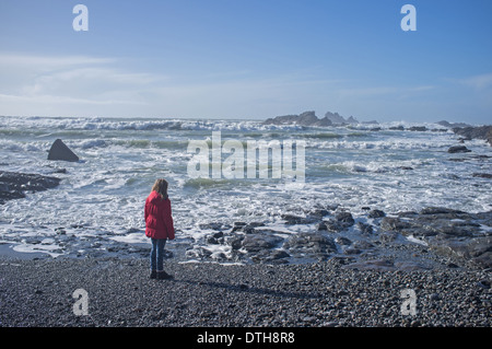
[[[491,34],[490,0],[1,0],[0,115],[491,124]]]

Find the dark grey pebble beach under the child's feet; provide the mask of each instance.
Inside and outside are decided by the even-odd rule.
[[[147,258],[0,259],[3,327],[490,327],[488,270],[361,270],[337,259],[304,265],[165,261],[173,280],[149,278]],[[75,290],[87,315],[75,315]],[[403,306],[415,294],[415,314]],[[78,307],[78,310],[83,310]]]

